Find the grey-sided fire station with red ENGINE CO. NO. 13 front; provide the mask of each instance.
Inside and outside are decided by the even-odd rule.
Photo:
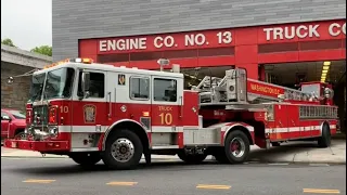
[[[293,88],[322,80],[345,127],[346,0],[60,0],[52,11],[54,61],[158,69],[164,57],[191,84],[230,67]]]

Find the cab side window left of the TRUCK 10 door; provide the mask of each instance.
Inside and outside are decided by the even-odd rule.
[[[130,99],[150,99],[150,79],[131,77],[130,78]]]

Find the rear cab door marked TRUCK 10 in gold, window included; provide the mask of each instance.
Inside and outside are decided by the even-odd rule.
[[[177,132],[183,118],[183,79],[152,76],[152,132]]]

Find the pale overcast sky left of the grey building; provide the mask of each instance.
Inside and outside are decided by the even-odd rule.
[[[52,46],[52,0],[1,0],[1,39],[23,49]]]

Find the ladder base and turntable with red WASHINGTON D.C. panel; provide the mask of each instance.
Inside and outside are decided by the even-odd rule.
[[[246,70],[226,70],[223,78],[205,76],[192,90],[200,92],[201,105],[260,104],[283,100],[313,101],[316,94],[248,79]]]

